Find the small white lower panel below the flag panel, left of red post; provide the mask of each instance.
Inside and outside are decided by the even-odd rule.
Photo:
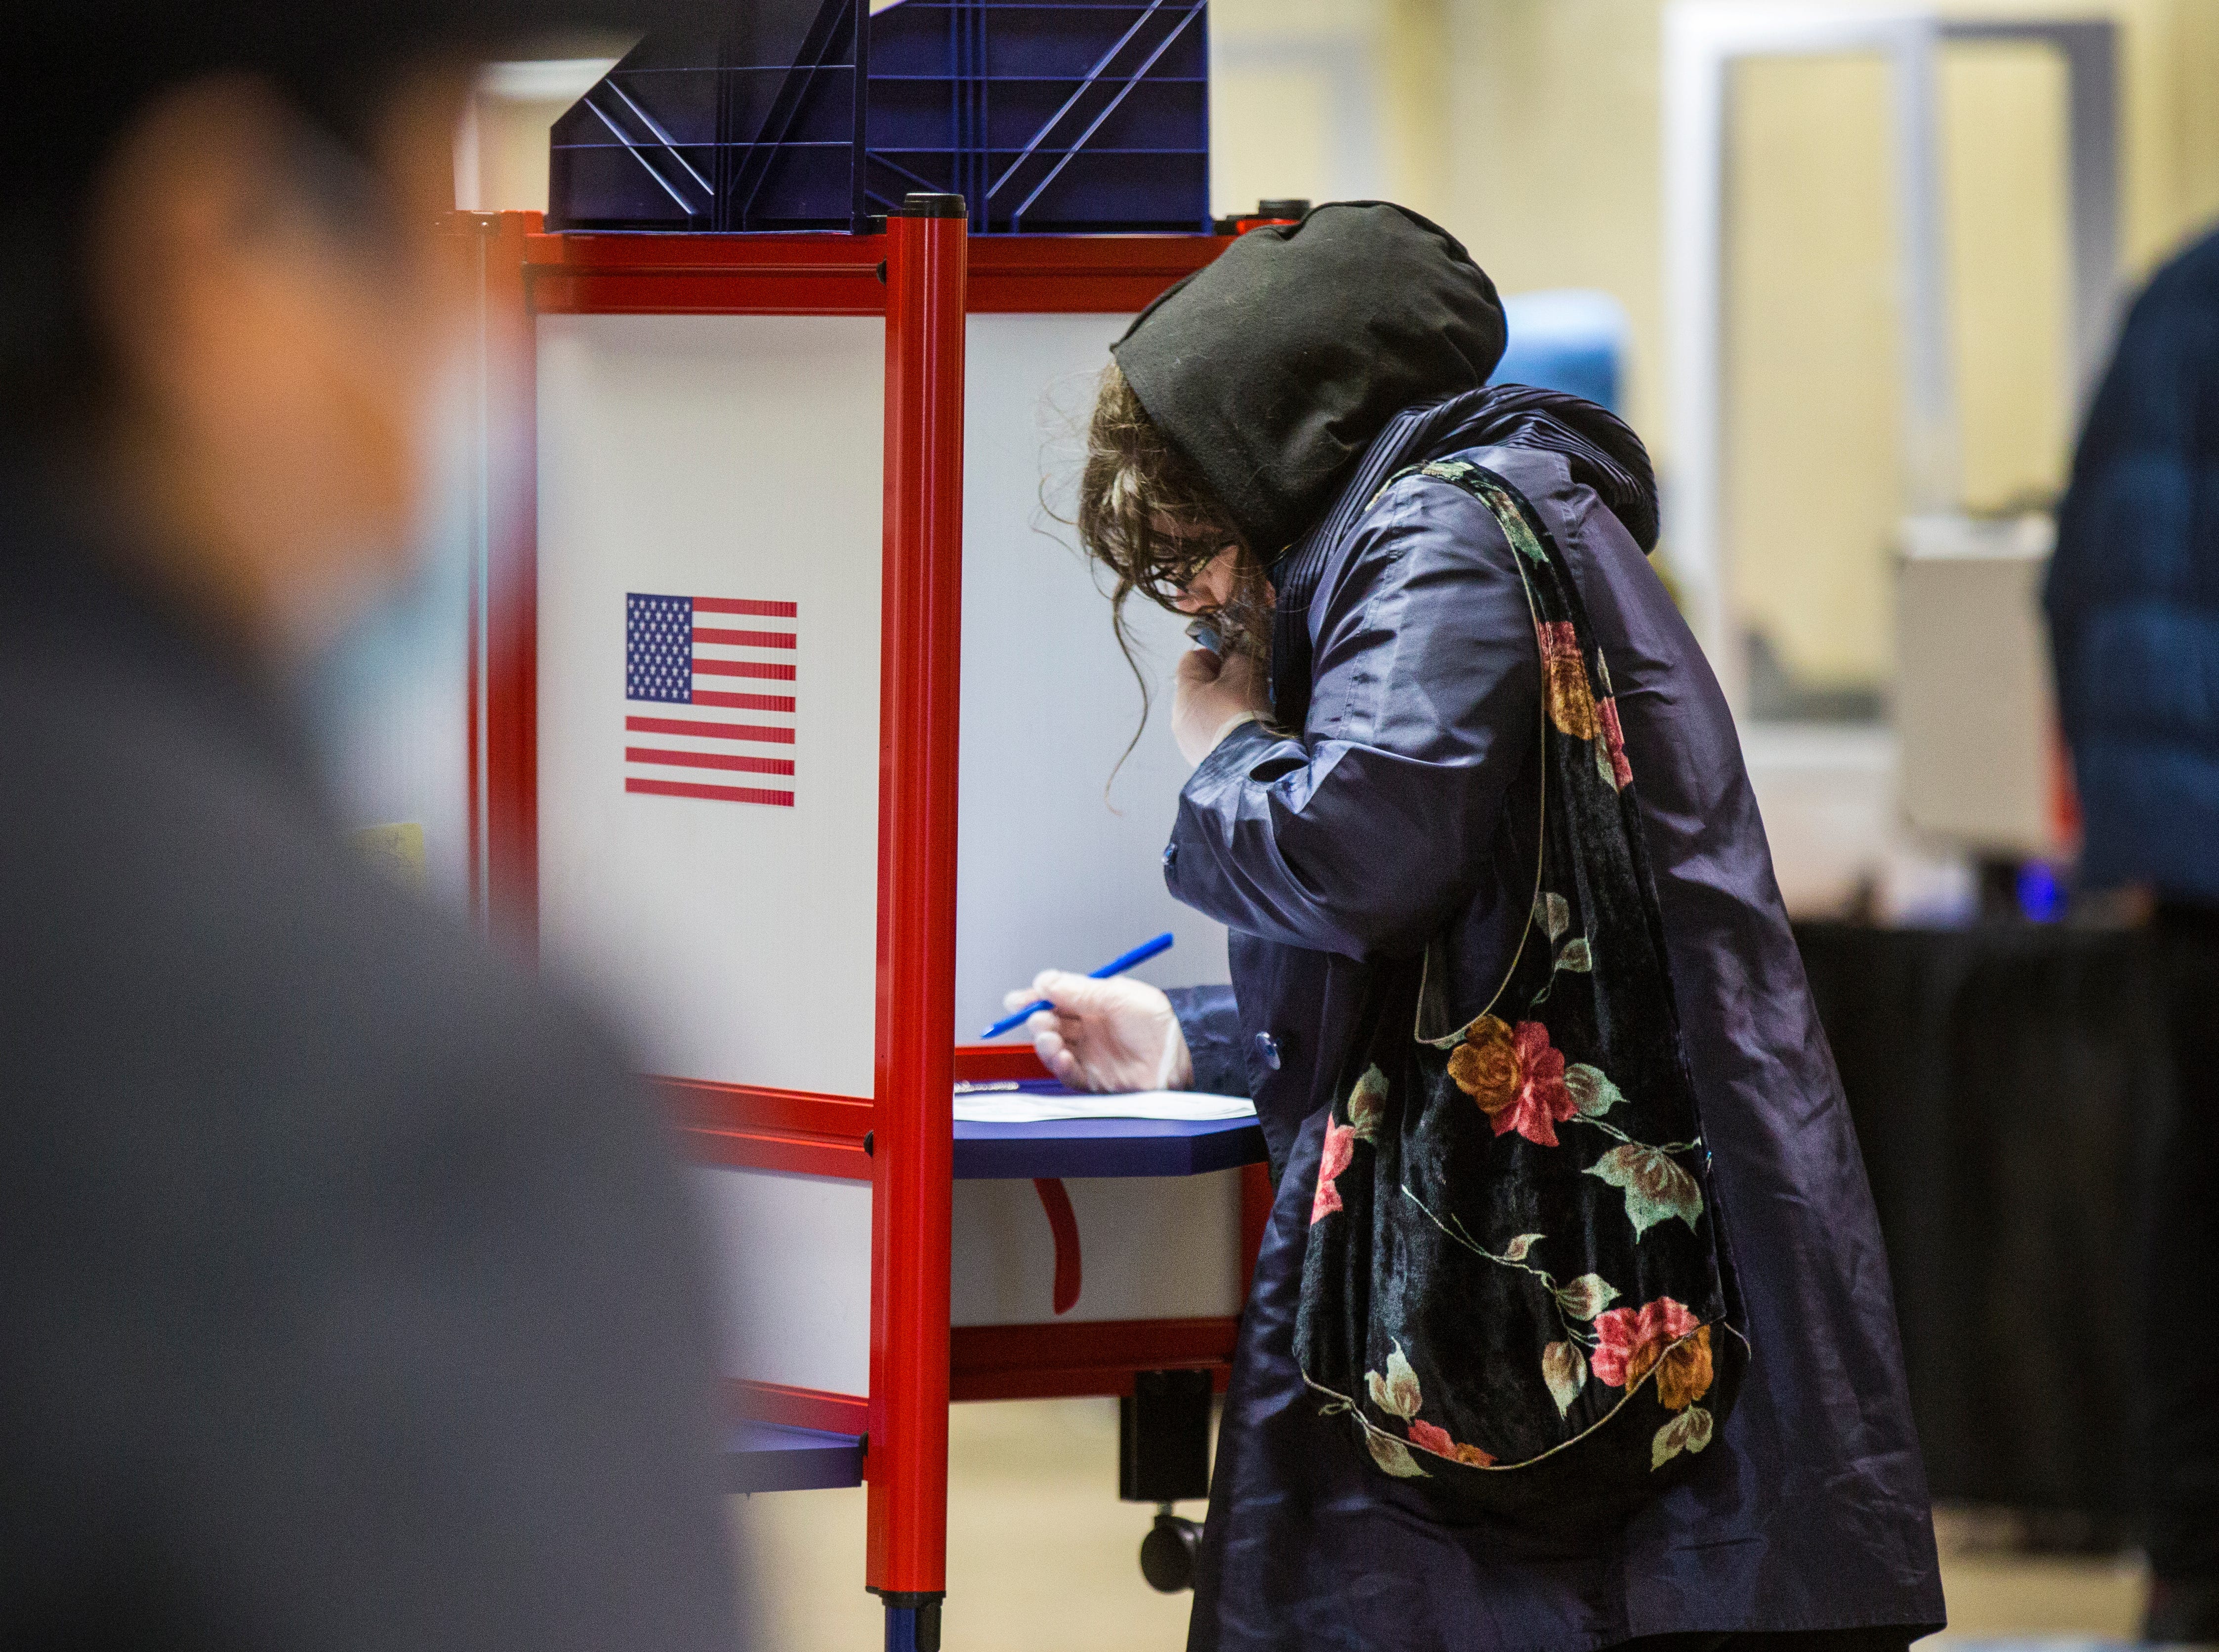
[[[692,1182],[717,1257],[723,1375],[868,1395],[870,1182],[721,1169]]]

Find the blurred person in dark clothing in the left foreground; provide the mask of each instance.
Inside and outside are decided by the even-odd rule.
[[[473,62],[586,20],[9,27],[9,1648],[737,1643],[655,1120],[597,1033],[357,867],[277,687],[419,539]]]

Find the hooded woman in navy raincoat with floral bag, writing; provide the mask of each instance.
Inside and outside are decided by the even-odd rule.
[[[1278,1189],[1189,1648],[1902,1648],[1886,1260],[1733,721],[1642,443],[1502,344],[1456,239],[1336,204],[1094,410],[1081,541],[1198,619],[1163,869],[1234,980],[1052,971],[1034,1042],[1254,1095]]]

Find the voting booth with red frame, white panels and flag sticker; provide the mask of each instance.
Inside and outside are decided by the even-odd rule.
[[[1036,969],[1169,929],[1161,980],[1225,971],[1163,889],[1161,718],[1105,798],[1138,692],[1043,499],[1107,344],[1225,242],[961,211],[468,224],[488,428],[530,430],[484,457],[473,900],[617,1007],[681,1129],[732,1488],[868,1483],[896,1612],[945,1583],[948,1404],[1223,1386],[1269,1197],[1254,1118],[952,1115],[1045,1082],[965,1044]]]

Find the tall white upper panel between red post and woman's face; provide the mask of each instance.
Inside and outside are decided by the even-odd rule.
[[[956,1038],[1047,967],[1087,971],[1169,929],[1136,976],[1225,980],[1225,929],[1163,889],[1187,763],[1172,745],[1181,621],[1134,601],[1156,712],[1125,767],[1141,690],[1072,532],[1096,375],[1125,315],[974,315],[963,455],[963,836]],[[1110,776],[1116,772],[1116,783]]]

